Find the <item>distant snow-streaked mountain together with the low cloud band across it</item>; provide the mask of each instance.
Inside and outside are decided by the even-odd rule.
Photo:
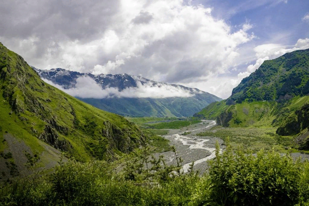
[[[210,103],[222,100],[197,88],[156,82],[140,76],[93,75],[61,68],[32,68],[42,79],[49,80],[78,99],[99,109],[126,116],[188,117]],[[97,89],[94,91],[93,88]]]

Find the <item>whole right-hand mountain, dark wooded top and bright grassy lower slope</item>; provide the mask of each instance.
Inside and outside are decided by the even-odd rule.
[[[309,149],[309,49],[267,60],[233,89],[193,116],[215,119],[224,127],[277,127]]]

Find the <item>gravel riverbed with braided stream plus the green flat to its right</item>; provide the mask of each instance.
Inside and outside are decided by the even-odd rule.
[[[215,121],[203,120],[202,123],[181,129],[169,129],[167,135],[162,135],[170,141],[171,145],[176,147],[178,156],[183,159],[184,172],[188,172],[189,164],[194,161],[193,170],[198,170],[200,174],[203,174],[208,169],[207,160],[215,157],[216,141],[218,141],[220,148],[224,149],[226,147],[224,140],[227,136],[230,137],[230,143],[234,148],[241,146],[244,149],[250,149],[253,153],[262,148],[266,151],[274,148],[283,155],[290,146],[291,139],[282,139],[282,137],[276,136],[275,128],[226,128],[215,125]],[[295,149],[291,149],[290,152],[293,159],[301,157],[303,160],[309,160],[309,154],[302,154]],[[164,155],[167,164],[175,164],[176,159],[172,151],[155,154],[156,157],[159,155]]]

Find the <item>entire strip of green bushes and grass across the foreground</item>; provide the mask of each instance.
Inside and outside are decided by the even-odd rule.
[[[226,141],[223,154],[217,144],[203,176],[183,174],[175,148],[174,165],[145,148],[123,170],[105,161],[70,160],[53,174],[8,181],[0,187],[0,205],[309,205],[307,161],[263,150],[255,157]]]

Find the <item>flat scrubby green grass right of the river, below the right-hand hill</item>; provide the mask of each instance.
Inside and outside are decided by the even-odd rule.
[[[260,149],[266,151],[275,148],[278,152],[286,152],[286,147],[293,147],[291,136],[280,136],[276,134],[276,128],[270,127],[221,127],[215,126],[210,130],[197,134],[198,136],[215,136],[226,140],[230,138],[233,148],[242,147],[258,152]],[[292,149],[293,152],[298,150]]]

